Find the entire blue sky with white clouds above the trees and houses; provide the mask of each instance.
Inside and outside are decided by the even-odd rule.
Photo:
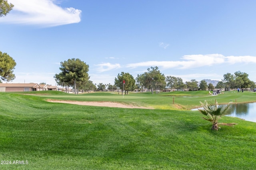
[[[55,85],[60,62],[78,58],[90,80],[114,84],[151,66],[183,81],[246,72],[256,82],[255,0],[8,0],[0,51],[13,83]]]

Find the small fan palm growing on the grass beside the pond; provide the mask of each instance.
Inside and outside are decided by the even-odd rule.
[[[224,115],[229,115],[232,113],[233,108],[231,107],[231,104],[218,104],[218,102],[212,102],[212,100],[205,100],[204,103],[200,102],[202,109],[198,109],[203,115],[206,117],[203,117],[203,119],[212,122],[212,130],[218,131],[220,127],[219,125],[226,125],[226,126],[233,126],[236,125],[236,123],[219,123],[220,117]]]

